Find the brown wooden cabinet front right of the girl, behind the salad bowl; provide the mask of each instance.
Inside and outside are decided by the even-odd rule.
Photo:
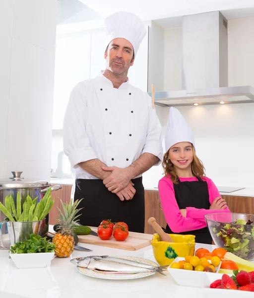
[[[254,198],[236,196],[221,197],[227,202],[228,208],[231,212],[254,214]]]

